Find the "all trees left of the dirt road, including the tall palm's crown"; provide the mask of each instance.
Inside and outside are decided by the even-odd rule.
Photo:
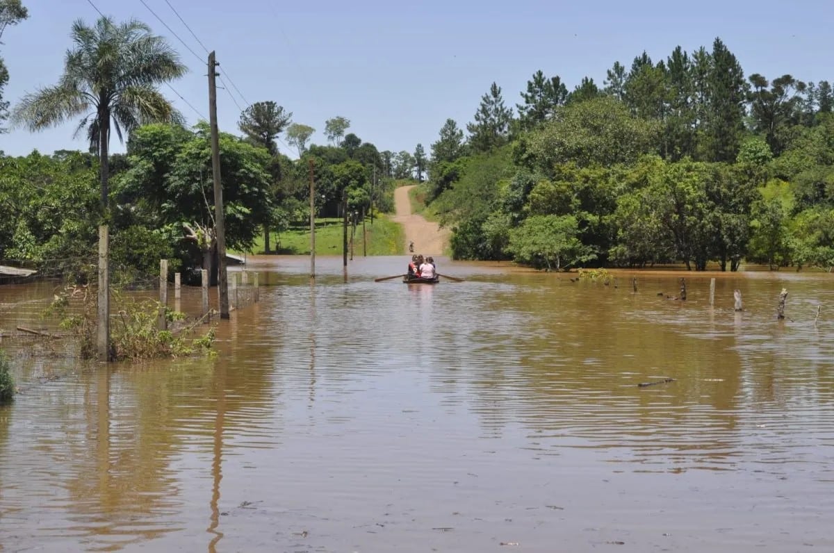
[[[0,32],[26,15],[19,0],[0,0]],[[108,224],[116,279],[149,279],[159,259],[171,259],[170,269],[187,279],[199,268],[216,277],[209,128],[204,122],[186,128],[157,88],[186,70],[178,54],[138,21],[78,21],[71,35],[58,83],[26,94],[12,109],[12,123],[37,131],[78,118],[90,150],[0,152],[0,263],[88,278],[97,264],[97,227]],[[7,80],[0,58],[0,100]],[[0,122],[8,118],[7,104],[0,102]],[[413,168],[409,153],[379,153],[346,134],[344,117],[325,122],[328,145],[309,144],[314,128],[293,123],[292,115],[272,101],[254,103],[240,115],[242,136],[220,134],[231,249],[250,249],[263,232],[269,253],[274,231],[309,217],[311,165],[317,215],[324,217],[340,214],[345,203],[357,217],[391,209],[394,175]],[[126,153],[109,153],[113,131],[127,138]],[[299,159],[279,152],[282,133]]]

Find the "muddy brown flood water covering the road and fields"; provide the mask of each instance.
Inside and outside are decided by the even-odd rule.
[[[834,550],[834,275],[404,266],[254,259],[217,359],[18,351],[0,550]]]

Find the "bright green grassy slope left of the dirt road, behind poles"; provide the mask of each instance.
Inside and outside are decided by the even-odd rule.
[[[385,215],[374,217],[373,225],[370,224],[370,219],[367,219],[365,221],[365,231],[367,232],[368,255],[401,255],[404,253],[405,237],[403,228],[399,224],[392,223]],[[353,233],[353,229],[348,227],[348,247],[350,247],[350,236]],[[356,225],[353,236],[354,255],[362,255],[361,222]],[[342,219],[316,219],[316,255],[341,255],[342,239]],[[270,237],[270,246],[272,246],[275,254],[309,255],[309,226],[294,227],[281,234],[273,233]],[[263,234],[255,240],[249,253],[264,253]]]

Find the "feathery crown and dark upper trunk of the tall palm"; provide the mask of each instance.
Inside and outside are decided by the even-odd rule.
[[[111,124],[123,142],[123,133],[143,123],[181,121],[155,85],[183,76],[187,68],[164,38],[136,20],[116,25],[100,18],[88,27],[79,19],[72,38],[74,48],[67,51],[58,84],[26,94],[12,121],[38,131],[81,117],[73,136],[86,127],[90,150],[98,153],[107,217]]]

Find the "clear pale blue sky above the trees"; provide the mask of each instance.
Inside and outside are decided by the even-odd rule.
[[[239,106],[273,100],[294,113],[294,122],[317,129],[314,143],[325,143],[324,121],[341,115],[351,122],[348,132],[380,151],[413,153],[422,143],[429,152],[446,118],[460,128],[473,120],[493,81],[514,107],[538,69],[560,75],[569,89],[586,75],[601,86],[615,61],[627,68],[643,50],[656,61],[679,44],[690,53],[711,49],[716,37],[745,75],[834,81],[830,0],[143,0],[179,38],[142,0],[23,0],[29,18],[7,28],[0,46],[10,73],[5,99],[14,105],[23,93],[58,81],[73,21],[98,18],[90,1],[118,21],[148,23],[178,50],[190,71],[172,83],[176,93],[161,90],[189,123],[208,117],[207,55],[168,4],[217,52],[220,73],[239,89],[229,84],[218,92],[222,131],[238,133]],[[0,150],[86,149],[83,137],[72,138],[75,124],[40,133],[13,129],[0,134]],[[123,151],[115,138],[112,148]],[[284,143],[279,149],[295,157]]]

